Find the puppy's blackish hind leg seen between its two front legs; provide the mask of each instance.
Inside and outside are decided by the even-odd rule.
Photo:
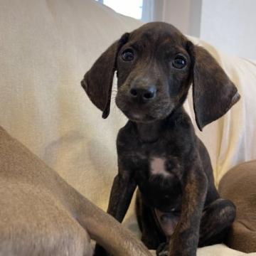
[[[142,232],[142,242],[149,250],[156,250],[162,242],[166,242],[164,234],[156,225],[153,211],[142,202],[139,190],[136,196],[136,217]]]

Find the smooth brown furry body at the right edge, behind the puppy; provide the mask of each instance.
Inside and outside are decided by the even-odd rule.
[[[256,161],[239,164],[228,171],[220,180],[219,191],[237,207],[228,246],[242,252],[256,252]]]

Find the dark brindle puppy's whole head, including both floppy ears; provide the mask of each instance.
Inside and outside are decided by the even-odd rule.
[[[135,122],[167,117],[183,104],[191,82],[199,129],[225,114],[240,97],[210,53],[167,23],[147,23],[125,33],[85,74],[82,87],[104,118],[110,113],[115,70],[117,107]]]

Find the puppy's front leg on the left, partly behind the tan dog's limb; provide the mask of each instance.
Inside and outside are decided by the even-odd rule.
[[[107,213],[112,215],[120,223],[124,219],[124,215],[127,213],[129,204],[132,200],[132,195],[135,191],[137,184],[134,181],[132,172],[124,170],[122,164],[119,164],[119,171],[117,176],[114,178],[110,193],[110,203],[107,209]],[[107,255],[107,252],[96,245],[95,256]]]

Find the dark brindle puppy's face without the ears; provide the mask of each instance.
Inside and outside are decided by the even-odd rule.
[[[188,40],[162,24],[126,40],[117,54],[117,107],[132,121],[164,119],[183,103],[191,82]]]

